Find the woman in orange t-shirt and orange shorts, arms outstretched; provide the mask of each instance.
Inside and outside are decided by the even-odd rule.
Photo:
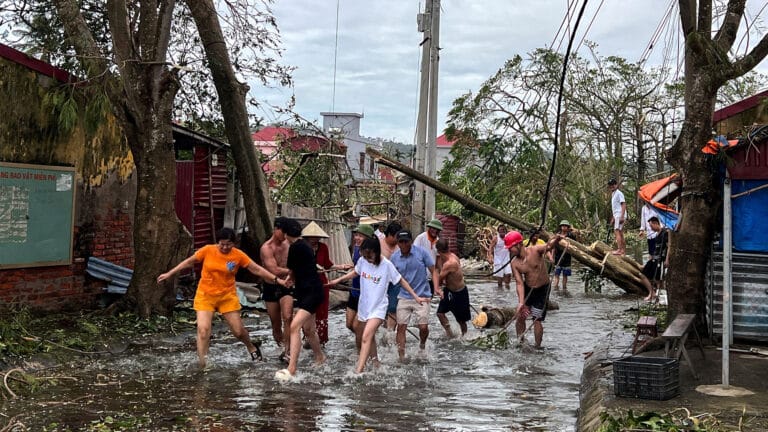
[[[245,344],[251,359],[261,360],[261,351],[251,342],[251,337],[240,319],[240,300],[235,288],[235,274],[238,269],[246,268],[254,275],[274,284],[287,284],[285,279],[279,279],[236,248],[235,239],[235,231],[222,228],[216,234],[215,245],[203,246],[191,257],[157,277],[157,283],[161,283],[171,279],[181,269],[203,263],[193,303],[197,315],[197,356],[200,367],[205,367],[208,357],[211,322],[215,312],[219,312],[227,321],[232,335]]]

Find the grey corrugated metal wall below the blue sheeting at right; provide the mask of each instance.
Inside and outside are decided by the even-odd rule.
[[[710,335],[723,331],[723,253],[712,253],[708,269]],[[733,254],[733,337],[768,341],[768,254]]]

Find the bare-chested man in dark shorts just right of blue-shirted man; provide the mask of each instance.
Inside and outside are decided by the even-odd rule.
[[[472,316],[469,312],[469,290],[464,283],[464,273],[461,271],[461,261],[459,257],[448,250],[448,240],[441,238],[435,244],[437,249],[436,267],[439,272],[439,281],[437,286],[442,286],[442,298],[437,306],[437,319],[445,329],[445,334],[449,338],[454,337],[451,330],[451,324],[448,322],[447,312],[452,312],[454,318],[459,323],[461,335],[467,334],[467,321]],[[440,293],[439,290],[435,290]]]

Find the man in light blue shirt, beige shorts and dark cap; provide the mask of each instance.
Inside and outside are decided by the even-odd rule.
[[[401,230],[397,233],[398,250],[392,253],[390,261],[395,265],[400,275],[405,278],[419,297],[431,297],[432,292],[427,280],[427,271],[432,275],[432,280],[439,280],[435,260],[429,251],[413,245],[411,232]],[[442,297],[440,287],[435,287],[435,294]],[[429,336],[429,303],[421,304],[416,301],[408,291],[400,288],[397,296],[397,352],[400,361],[405,360],[405,332],[411,317],[416,320],[419,327],[419,348],[424,349]]]

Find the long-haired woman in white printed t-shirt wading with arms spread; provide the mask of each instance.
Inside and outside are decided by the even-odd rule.
[[[408,281],[400,276],[394,264],[381,256],[381,246],[378,239],[366,239],[360,245],[360,257],[355,269],[330,282],[337,285],[346,280],[360,276],[360,301],[357,306],[357,319],[364,323],[360,357],[357,359],[355,372],[361,373],[365,369],[368,359],[373,359],[378,365],[378,351],[376,348],[376,330],[387,316],[387,287],[390,283],[405,288],[419,303],[429,302],[429,298],[419,297],[408,284]]]

